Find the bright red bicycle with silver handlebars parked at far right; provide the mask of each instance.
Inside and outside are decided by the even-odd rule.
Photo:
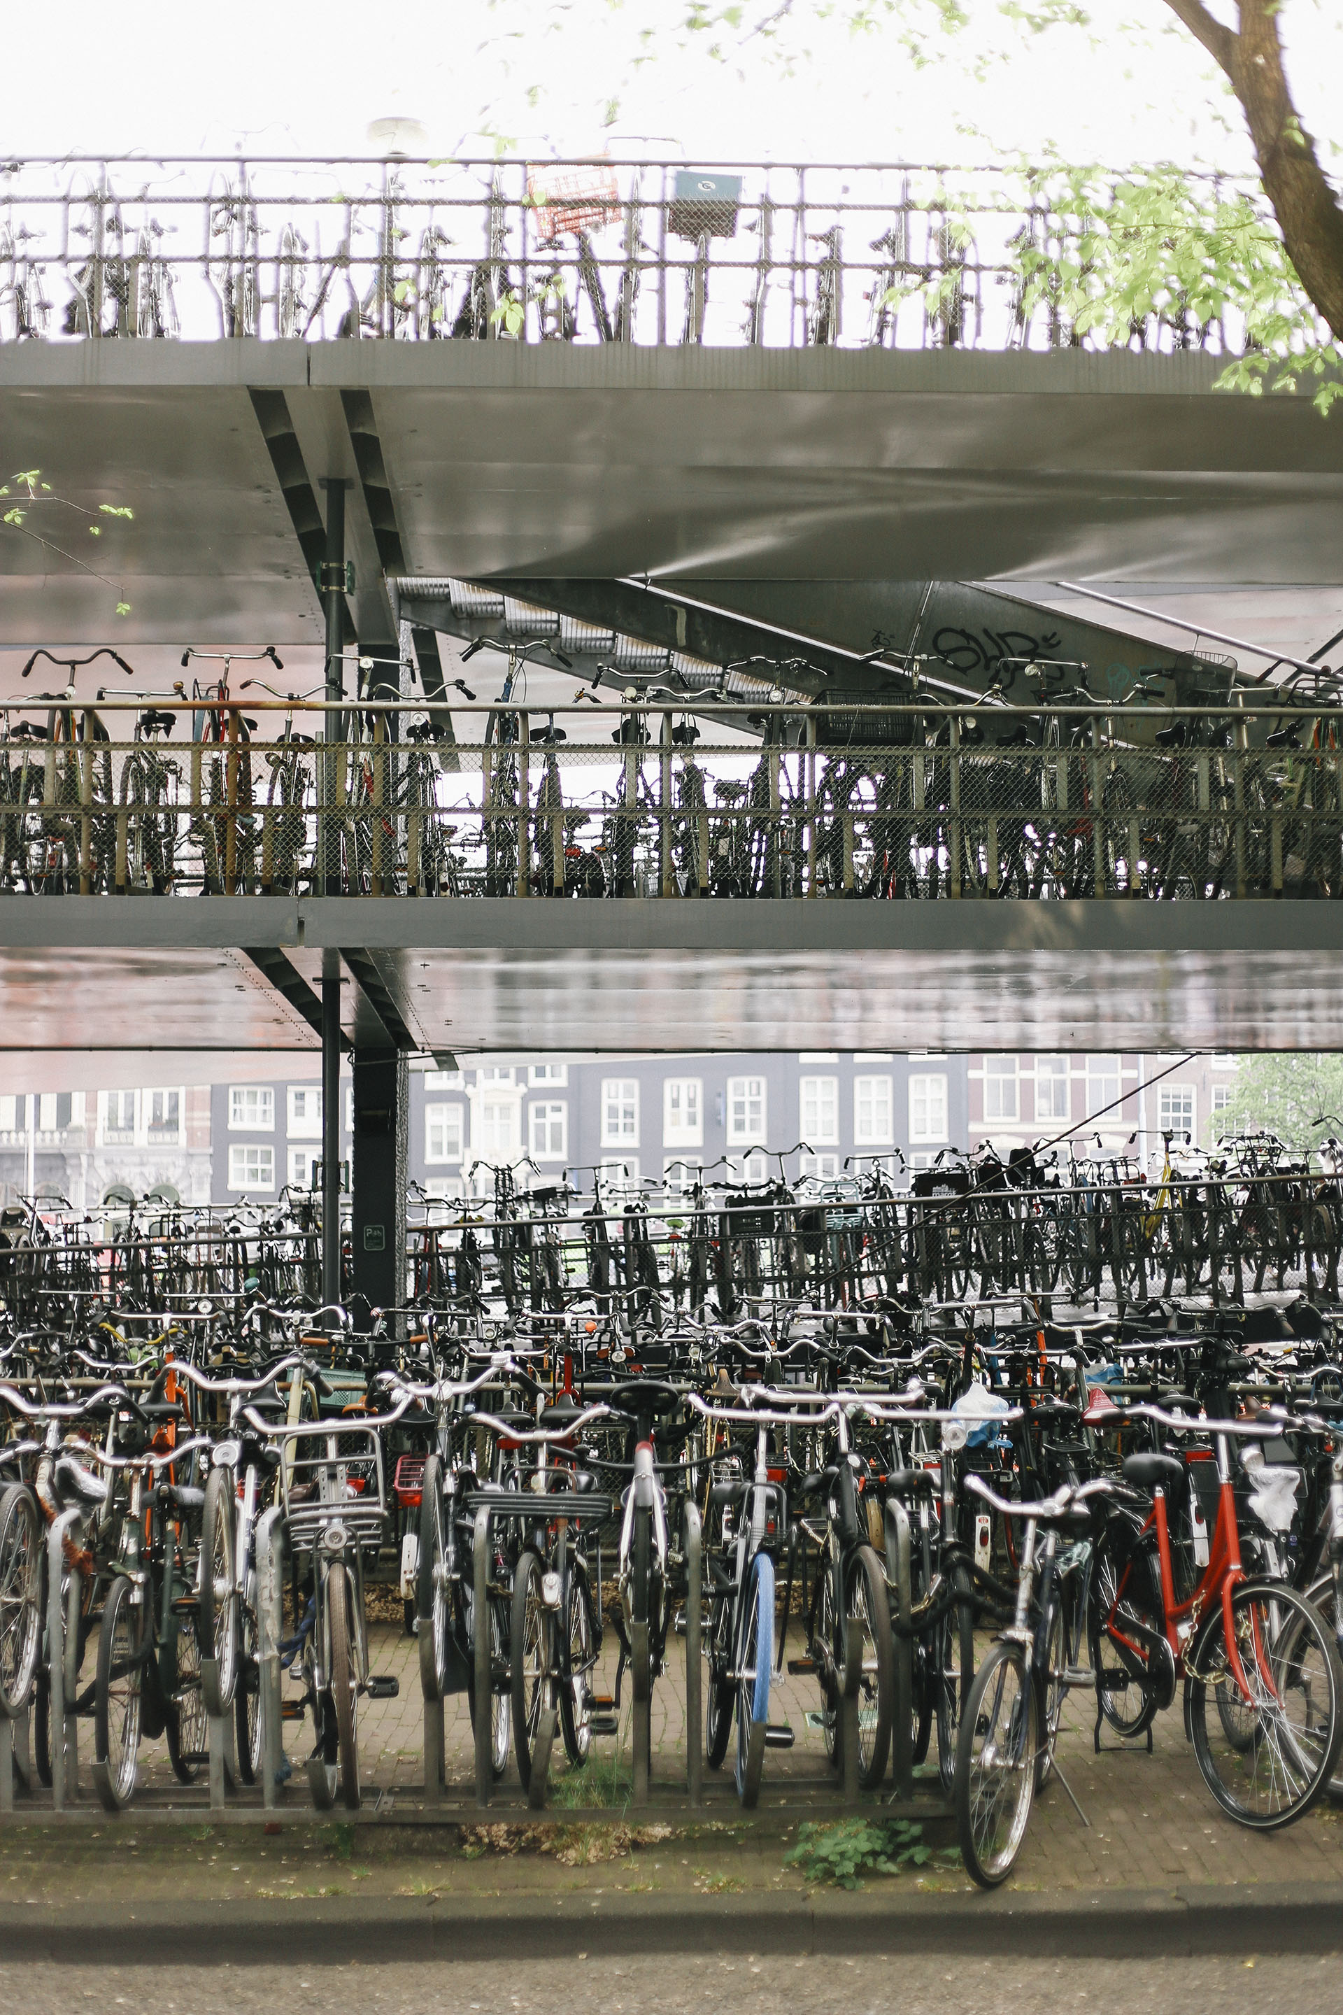
[[[1283,1427],[1327,1435],[1327,1425],[1277,1408],[1256,1421],[1198,1421],[1160,1406],[1120,1408],[1099,1392],[1083,1421],[1105,1431],[1150,1421],[1172,1435],[1210,1437],[1218,1481],[1208,1558],[1194,1560],[1196,1572],[1176,1541],[1182,1580],[1194,1582],[1180,1592],[1170,1505],[1184,1503],[1190,1465],[1162,1451],[1124,1457],[1124,1481],[1150,1491],[1152,1509],[1115,1509],[1095,1541],[1087,1636],[1099,1717],[1122,1737],[1144,1735],[1184,1678],[1184,1725],[1218,1805],[1262,1832],[1289,1826],[1333,1775],[1343,1741],[1343,1664],[1315,1604],[1283,1582],[1246,1576],[1230,1443],[1264,1441]]]

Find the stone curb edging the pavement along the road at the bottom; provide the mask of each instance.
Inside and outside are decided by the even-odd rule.
[[[387,1898],[350,1910],[304,1900],[143,1904],[115,1918],[97,1910],[0,1908],[6,1961],[103,1965],[183,1959],[191,1965],[306,1965],[379,1961],[578,1959],[683,1951],[838,1955],[942,1953],[1021,1959],[1152,1959],[1343,1951],[1343,1884],[1236,1884],[1109,1890],[1061,1896],[997,1892],[932,1896],[757,1894],[683,1896],[536,1894],[499,1902]]]

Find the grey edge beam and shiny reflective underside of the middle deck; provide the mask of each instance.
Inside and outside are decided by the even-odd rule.
[[[0,901],[0,1048],[314,1050],[332,955],[346,1036],[455,1054],[1343,1050],[1329,903],[262,897]]]

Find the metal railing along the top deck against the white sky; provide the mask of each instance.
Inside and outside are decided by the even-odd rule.
[[[1097,347],[1031,284],[1089,228],[1061,175],[995,167],[12,159],[0,341]],[[1242,332],[1172,298],[1130,341]]]

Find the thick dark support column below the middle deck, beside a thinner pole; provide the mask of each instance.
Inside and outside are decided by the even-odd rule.
[[[368,1308],[405,1302],[411,1072],[399,1050],[354,1052],[352,1290]]]

